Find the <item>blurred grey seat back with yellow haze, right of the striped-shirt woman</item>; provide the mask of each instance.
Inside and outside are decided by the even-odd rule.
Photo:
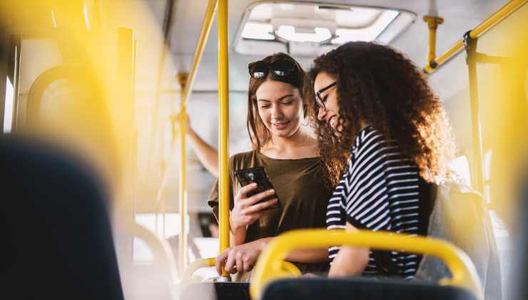
[[[466,252],[477,269],[485,299],[502,299],[497,244],[489,210],[479,193],[455,183],[438,186],[428,235]],[[425,256],[417,271],[418,279],[435,282],[446,276],[450,271],[432,256]]]

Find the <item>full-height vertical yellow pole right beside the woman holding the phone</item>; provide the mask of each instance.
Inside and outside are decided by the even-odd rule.
[[[229,69],[228,69],[228,0],[218,1],[218,180],[220,212],[220,252],[229,247]],[[222,276],[228,276],[223,270]]]

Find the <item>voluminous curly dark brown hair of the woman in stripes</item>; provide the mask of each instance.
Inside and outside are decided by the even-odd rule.
[[[348,42],[315,59],[310,79],[321,72],[335,77],[340,107],[338,134],[324,120],[313,120],[331,186],[345,170],[362,122],[394,139],[425,181],[440,184],[452,177],[455,141],[447,114],[410,59],[389,46]],[[315,107],[314,97],[309,99]]]

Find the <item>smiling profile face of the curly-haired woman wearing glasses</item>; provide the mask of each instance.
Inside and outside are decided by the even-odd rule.
[[[318,109],[318,119],[325,121],[332,129],[339,131],[339,103],[337,102],[337,86],[332,86],[329,89],[325,89],[331,84],[335,83],[335,77],[326,73],[320,72],[315,77],[313,89],[315,92],[322,91],[320,93],[320,99],[325,104],[325,107],[320,106]]]

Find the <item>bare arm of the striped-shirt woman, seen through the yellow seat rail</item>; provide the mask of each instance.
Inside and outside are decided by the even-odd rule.
[[[347,222],[347,232],[357,231]],[[368,264],[369,249],[342,246],[335,256],[328,277],[342,277],[361,274]]]

